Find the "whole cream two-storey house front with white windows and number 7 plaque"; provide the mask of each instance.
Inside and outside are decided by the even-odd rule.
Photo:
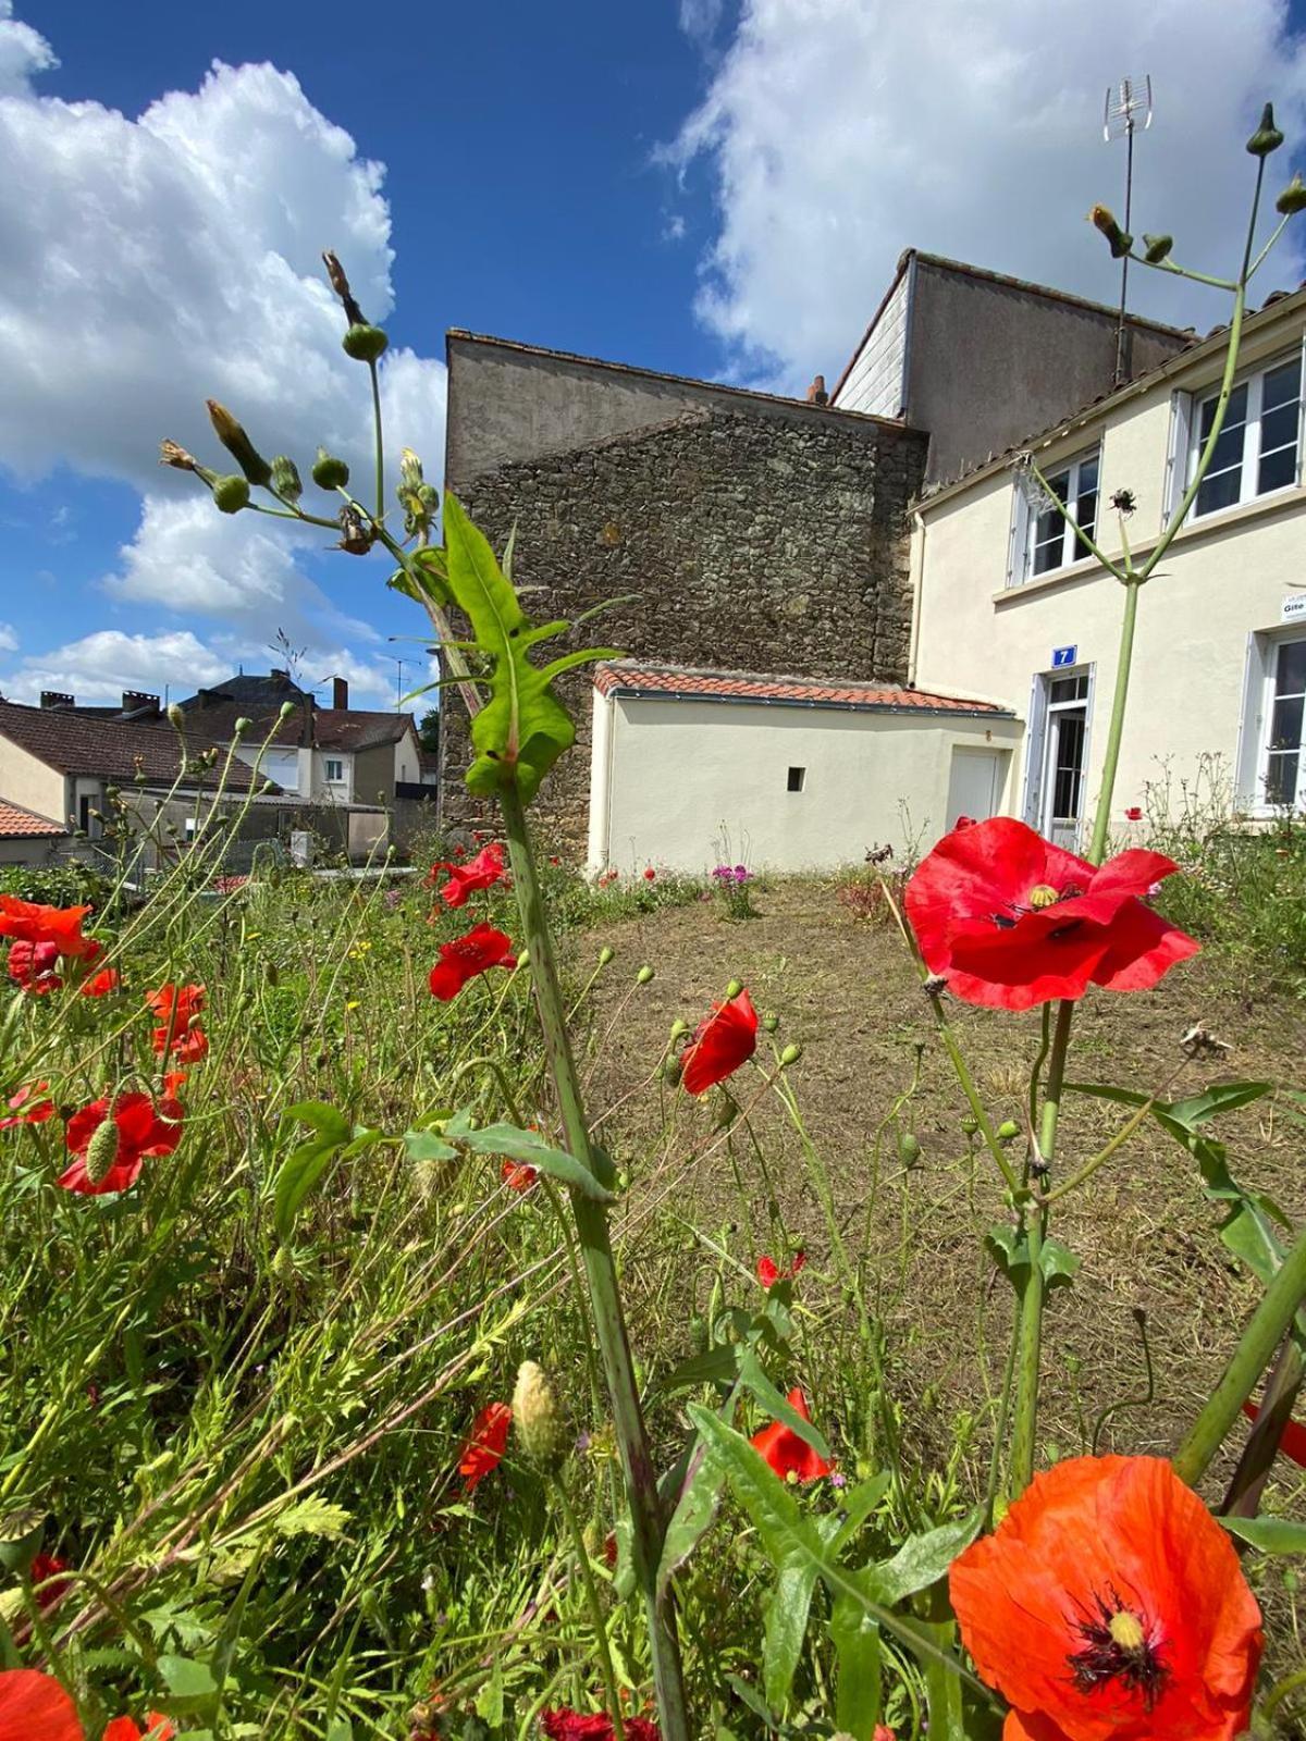
[[[1304,334],[1306,291],[1247,320],[1214,463],[1142,590],[1121,811],[1163,787],[1174,806],[1212,759],[1247,815],[1306,806]],[[1127,538],[1146,557],[1182,501],[1224,341],[1191,345],[1027,444],[1106,555]],[[1008,454],[918,505],[911,681],[1015,710],[1026,731],[1006,808],[1074,843],[1101,783],[1123,592],[1027,479]]]

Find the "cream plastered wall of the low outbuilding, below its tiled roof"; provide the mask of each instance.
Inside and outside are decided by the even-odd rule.
[[[996,750],[1010,780],[1019,735],[1012,719],[596,693],[590,865],[811,870],[932,843],[953,749]],[[791,768],[804,770],[801,792],[787,790]]]

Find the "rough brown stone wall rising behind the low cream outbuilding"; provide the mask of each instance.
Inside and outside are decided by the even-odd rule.
[[[465,407],[467,413],[468,407]],[[552,642],[674,665],[902,682],[911,637],[907,505],[925,437],[848,413],[703,406],[656,427],[484,470],[463,505],[502,550],[536,622],[634,595]],[[545,649],[540,649],[542,656]],[[559,682],[576,747],[536,801],[568,855],[585,848],[590,679]],[[481,823],[461,776],[467,717],[446,691],[442,822]]]

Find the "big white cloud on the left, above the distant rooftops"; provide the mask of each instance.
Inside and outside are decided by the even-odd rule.
[[[167,435],[233,468],[209,428],[212,397],[263,453],[291,453],[305,481],[319,442],[355,482],[371,479],[367,371],[340,348],[320,251],[340,254],[383,320],[394,256],[381,165],[272,66],[214,63],[199,91],[132,120],[38,96],[31,77],[50,64],[0,0],[0,468],[31,481],[70,465],[143,493],[104,583],[118,602],[202,615],[256,644],[275,629],[317,644],[369,635],[296,562],[329,533],[225,519],[157,454]],[[414,446],[439,477],[444,366],[395,346],[381,381],[392,460]],[[305,507],[336,503],[306,482]],[[383,585],[378,562],[357,573]]]

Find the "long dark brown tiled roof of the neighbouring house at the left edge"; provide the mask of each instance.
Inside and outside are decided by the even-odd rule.
[[[171,785],[181,764],[178,733],[169,724],[98,719],[63,709],[0,702],[0,736],[57,773],[98,780],[129,782],[143,776],[155,785]],[[221,754],[221,743],[209,733],[186,733],[186,754],[199,756],[209,749]],[[212,773],[205,773],[204,783],[211,785],[212,778]],[[252,768],[235,759],[226,771],[226,785],[233,790],[249,790],[256,778]]]

